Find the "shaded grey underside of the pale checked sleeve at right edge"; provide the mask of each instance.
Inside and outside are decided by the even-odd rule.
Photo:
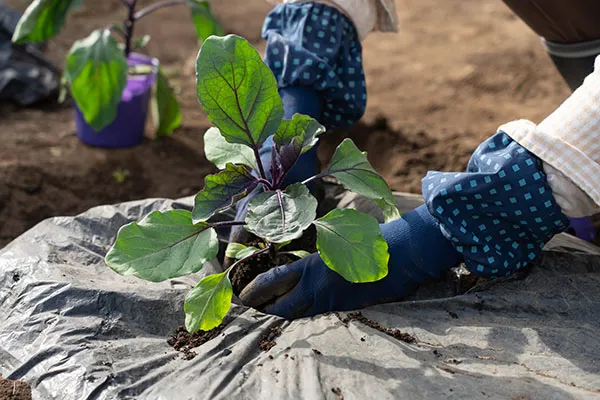
[[[544,163],[544,172],[556,203],[569,218],[583,218],[600,212],[590,196],[552,165]]]

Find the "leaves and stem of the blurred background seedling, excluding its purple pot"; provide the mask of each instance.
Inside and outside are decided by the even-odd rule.
[[[150,41],[146,35],[135,39],[136,23],[147,15],[165,7],[187,5],[199,40],[210,35],[223,35],[223,29],[210,11],[207,1],[160,0],[138,9],[137,0],[120,0],[126,17],[121,24],[94,30],[85,39],[76,41],[67,55],[63,74],[61,99],[66,86],[85,122],[101,131],[117,117],[118,106],[125,98],[128,77],[156,74],[153,77],[152,113],[157,136],[169,135],[180,125],[181,114],[175,94],[164,72],[152,59],[133,51]],[[81,6],[83,0],[34,0],[16,27],[13,42],[44,42],[57,35],[67,14]],[[117,42],[117,37],[122,39]],[[149,90],[148,90],[149,91]],[[142,110],[145,121],[147,100]],[[132,118],[131,115],[126,116]]]

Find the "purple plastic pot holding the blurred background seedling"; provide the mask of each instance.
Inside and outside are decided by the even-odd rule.
[[[77,136],[83,143],[97,147],[122,148],[135,146],[144,139],[148,102],[158,72],[158,60],[131,53],[127,61],[130,66],[151,65],[153,70],[147,75],[127,77],[127,86],[123,90],[115,120],[99,132],[88,125],[75,104],[75,127]]]

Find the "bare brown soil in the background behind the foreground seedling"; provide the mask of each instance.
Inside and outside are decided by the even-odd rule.
[[[29,3],[4,1],[19,10]],[[226,31],[264,50],[260,30],[271,4],[212,6]],[[49,41],[48,58],[62,68],[74,40],[124,17],[119,0],[84,2]],[[420,193],[428,170],[464,170],[498,126],[538,122],[569,94],[539,38],[499,0],[404,0],[398,17],[398,34],[373,34],[363,43],[367,111],[355,127],[323,136],[324,162],[349,136],[392,189]],[[186,7],[157,11],[136,26],[140,37],[152,36],[146,51],[160,59],[181,103],[183,127],[172,137],[132,149],[92,148],[75,136],[69,104],[0,104],[0,248],[48,217],[202,188],[216,169],[203,152],[210,124],[196,98],[194,32]]]

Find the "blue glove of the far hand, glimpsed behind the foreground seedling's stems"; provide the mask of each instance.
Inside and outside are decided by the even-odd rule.
[[[284,118],[292,119],[294,114],[309,115],[312,118],[319,119],[322,109],[323,100],[321,95],[312,89],[304,87],[287,87],[279,90],[279,95],[283,101]],[[265,169],[267,179],[271,179],[271,163],[272,163],[272,151],[275,147],[273,137],[270,137],[265,141],[261,147],[259,154]],[[288,171],[283,181],[283,185],[288,186],[292,183],[301,182],[305,179],[319,172],[320,165],[317,157],[317,146],[311,150],[302,154],[296,164]],[[262,186],[259,185],[254,192],[240,200],[236,204],[236,216],[237,221],[243,221],[246,218],[248,212],[248,202],[254,196],[262,191]],[[246,231],[243,226],[235,226],[231,229],[229,236],[230,243],[247,243],[253,235]],[[229,267],[235,260],[225,258],[224,267]]]

